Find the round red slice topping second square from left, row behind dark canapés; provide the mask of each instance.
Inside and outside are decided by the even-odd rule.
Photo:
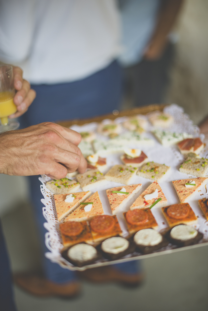
[[[92,230],[96,232],[106,232],[115,225],[115,219],[109,215],[97,215],[90,221]]]

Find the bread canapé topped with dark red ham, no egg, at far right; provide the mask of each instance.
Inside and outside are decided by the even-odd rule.
[[[199,137],[186,138],[182,140],[182,142],[179,142],[177,145],[182,154],[188,154],[192,152],[198,155],[205,147],[205,144],[203,144]]]

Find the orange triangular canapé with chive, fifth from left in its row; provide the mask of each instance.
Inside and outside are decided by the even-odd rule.
[[[199,187],[205,185],[208,181],[206,177],[198,177],[198,178],[188,178],[188,179],[180,179],[174,180],[173,186],[176,190],[177,196],[181,203],[188,202],[188,200],[193,196],[195,191],[199,189]],[[195,182],[196,186],[191,186],[191,188],[187,188],[186,183]]]

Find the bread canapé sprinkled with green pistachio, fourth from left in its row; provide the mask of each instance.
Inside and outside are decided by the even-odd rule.
[[[138,170],[137,175],[151,180],[160,180],[170,169],[171,167],[165,164],[147,162]]]

